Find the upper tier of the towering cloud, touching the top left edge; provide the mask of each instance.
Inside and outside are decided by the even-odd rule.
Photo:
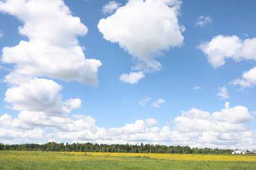
[[[44,40],[57,46],[77,45],[76,36],[88,31],[60,0],[7,0],[0,5],[0,11],[14,15],[24,23],[19,32],[30,40]]]

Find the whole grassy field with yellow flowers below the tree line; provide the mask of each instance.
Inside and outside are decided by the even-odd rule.
[[[76,154],[0,151],[0,169],[256,169],[256,155]]]

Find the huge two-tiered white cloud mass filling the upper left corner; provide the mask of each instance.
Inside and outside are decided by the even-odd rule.
[[[77,40],[88,29],[78,17],[71,15],[63,1],[1,1],[0,11],[23,22],[19,33],[29,39],[3,48],[2,61],[16,64],[6,82],[13,83],[17,77],[26,75],[98,84],[101,62],[86,59]]]

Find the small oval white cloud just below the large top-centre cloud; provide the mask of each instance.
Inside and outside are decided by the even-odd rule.
[[[137,84],[140,79],[144,78],[144,74],[142,71],[139,71],[138,73],[131,72],[129,75],[128,74],[122,74],[119,79],[122,82],[125,83],[130,83],[130,84]]]

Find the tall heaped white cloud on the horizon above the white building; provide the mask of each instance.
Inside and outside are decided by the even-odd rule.
[[[175,130],[189,137],[197,145],[204,143],[201,147],[248,148],[256,144],[251,142],[254,140],[254,132],[242,123],[253,120],[247,108],[230,108],[229,103],[226,103],[225,109],[213,112],[212,115],[195,108],[182,112],[182,116],[176,117],[172,123],[175,124]],[[243,141],[246,137],[248,139]]]

